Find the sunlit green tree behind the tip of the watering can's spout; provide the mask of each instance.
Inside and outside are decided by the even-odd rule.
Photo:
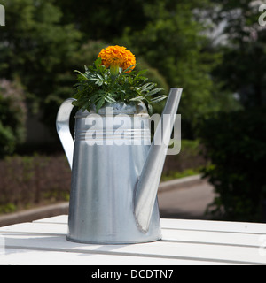
[[[157,68],[170,88],[184,88],[179,113],[187,129],[218,106],[210,76],[218,56],[209,52],[209,40],[202,33],[205,26],[196,19],[199,9],[204,9],[206,4],[205,1],[202,5],[194,1],[145,2],[144,28],[134,31],[128,27],[121,39]],[[192,133],[189,135],[193,137]]]

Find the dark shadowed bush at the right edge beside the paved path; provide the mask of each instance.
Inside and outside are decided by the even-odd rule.
[[[217,197],[209,208],[229,220],[262,221],[266,199],[266,111],[220,113],[200,125],[211,165],[204,170]]]

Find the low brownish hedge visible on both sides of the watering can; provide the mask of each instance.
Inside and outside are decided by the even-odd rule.
[[[183,141],[180,154],[167,157],[162,180],[195,174],[202,162],[199,142]],[[63,153],[4,157],[0,160],[0,214],[68,201],[70,184],[71,171]]]

